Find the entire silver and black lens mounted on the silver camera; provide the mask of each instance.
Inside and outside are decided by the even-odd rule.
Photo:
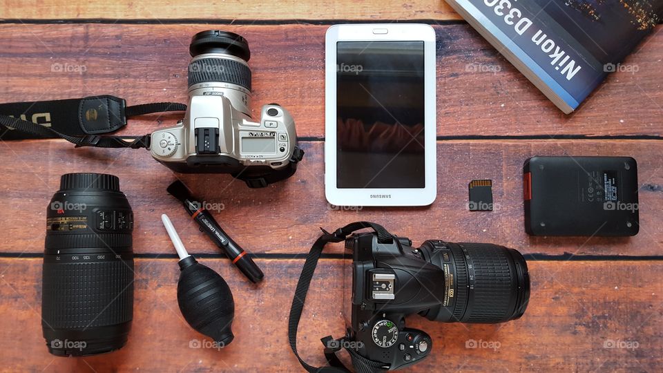
[[[251,116],[249,44],[234,32],[208,30],[193,35],[189,63],[189,95],[222,95],[238,111]]]

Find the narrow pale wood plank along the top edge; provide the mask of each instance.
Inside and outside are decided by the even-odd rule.
[[[209,21],[235,20],[319,20],[319,19],[460,19],[460,16],[440,0],[416,1],[351,1],[337,0],[320,4],[316,1],[206,1],[145,0],[75,2],[50,0],[5,0],[0,19],[144,19],[149,21],[172,19],[200,19]]]

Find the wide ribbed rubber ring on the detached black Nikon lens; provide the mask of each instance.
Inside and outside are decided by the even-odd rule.
[[[117,325],[133,318],[133,260],[44,264],[44,327]]]

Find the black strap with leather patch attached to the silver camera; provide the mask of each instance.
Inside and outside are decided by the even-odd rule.
[[[61,138],[76,145],[99,148],[148,148],[151,135],[99,136],[126,126],[138,115],[186,111],[186,105],[157,102],[126,106],[111,95],[79,99],[0,104],[0,140]]]

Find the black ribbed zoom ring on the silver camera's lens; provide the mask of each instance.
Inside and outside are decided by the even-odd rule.
[[[233,59],[204,58],[189,64],[189,86],[205,82],[237,84],[251,90],[251,69]]]

